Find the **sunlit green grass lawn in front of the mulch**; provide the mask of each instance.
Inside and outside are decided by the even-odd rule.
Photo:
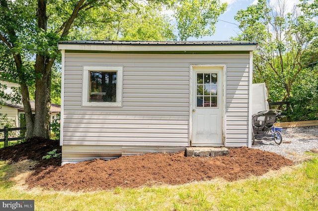
[[[0,199],[34,200],[35,210],[39,211],[316,211],[318,155],[314,156],[292,167],[235,182],[215,179],[88,193],[25,189],[10,181],[21,166],[0,161]]]

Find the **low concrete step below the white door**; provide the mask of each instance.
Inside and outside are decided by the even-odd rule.
[[[216,157],[226,156],[230,151],[225,147],[186,147],[185,154],[187,157]]]

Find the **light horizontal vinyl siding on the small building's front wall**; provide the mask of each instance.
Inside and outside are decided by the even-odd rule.
[[[63,145],[189,146],[191,64],[226,65],[225,146],[247,146],[248,53],[65,53]],[[118,65],[123,66],[122,107],[81,106],[83,66]]]

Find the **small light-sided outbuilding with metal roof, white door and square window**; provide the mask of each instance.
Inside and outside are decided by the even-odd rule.
[[[252,52],[238,41],[63,41],[62,164],[251,146]]]

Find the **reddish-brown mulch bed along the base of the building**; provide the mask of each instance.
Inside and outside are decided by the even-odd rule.
[[[179,185],[217,177],[235,181],[293,165],[292,160],[275,153],[242,147],[230,149],[228,156],[216,158],[185,157],[184,151],[181,151],[176,154],[123,156],[108,161],[94,159],[60,166],[60,158],[42,159],[53,149],[58,149],[57,153],[61,151],[58,141],[35,138],[21,145],[0,149],[0,158],[11,162],[21,159],[40,161],[26,179],[30,188],[41,186],[71,191]]]

